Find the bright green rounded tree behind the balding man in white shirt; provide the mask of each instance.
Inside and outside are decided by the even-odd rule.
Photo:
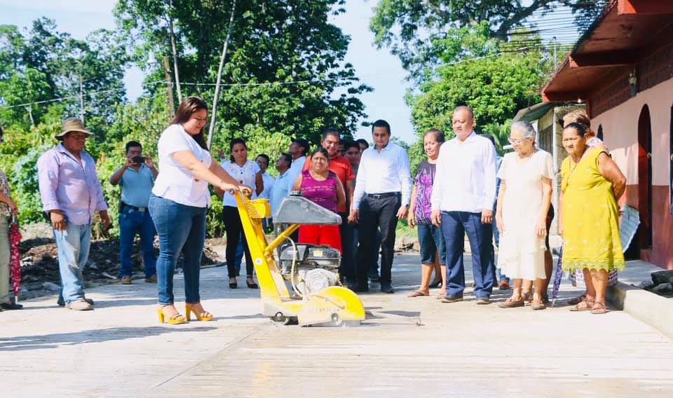
[[[491,39],[484,25],[482,22],[475,27],[458,29],[459,32],[451,35],[453,39],[446,39],[449,41],[440,55],[442,59],[455,59],[458,49],[460,53],[473,53],[477,57],[437,67],[426,74],[418,92],[407,94],[412,122],[419,133],[440,128],[447,138],[451,137],[453,110],[459,105],[468,105],[475,113],[477,130],[494,135],[496,146],[501,149],[508,134],[503,125],[518,109],[541,100],[538,87],[553,63],[548,52],[537,47],[526,49],[517,41],[503,43]],[[523,43],[538,39],[520,37]],[[453,41],[460,41],[463,46],[456,47]],[[416,152],[421,153],[418,149]]]

